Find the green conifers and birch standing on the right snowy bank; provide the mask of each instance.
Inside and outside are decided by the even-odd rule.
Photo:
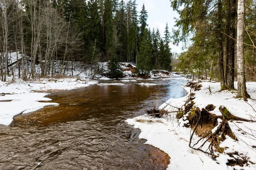
[[[173,40],[187,47],[177,69],[220,81],[221,90],[234,89],[237,77],[238,96],[249,97],[245,82],[256,80],[256,2],[171,0],[171,6],[180,15]]]

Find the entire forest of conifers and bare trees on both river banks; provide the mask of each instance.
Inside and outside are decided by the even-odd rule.
[[[64,75],[67,63],[73,68],[78,61],[92,67],[110,61],[113,77],[119,77],[118,62],[135,63],[141,75],[172,71],[172,39],[185,51],[173,70],[234,89],[238,77],[242,84],[256,77],[256,2],[242,1],[170,0],[179,17],[172,34],[166,23],[161,37],[136,0],[0,0],[1,80],[16,70],[23,79]],[[11,52],[17,53],[15,62]]]

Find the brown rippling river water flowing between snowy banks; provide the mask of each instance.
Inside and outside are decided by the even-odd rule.
[[[153,86],[138,85],[156,83]],[[18,115],[0,126],[0,170],[164,170],[170,157],[144,144],[125,120],[145,113],[160,99],[186,95],[184,79],[100,80],[47,97],[60,105]]]

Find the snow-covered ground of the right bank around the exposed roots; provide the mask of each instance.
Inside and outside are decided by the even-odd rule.
[[[247,82],[247,91],[251,96],[247,103],[241,99],[235,99],[235,91],[220,92],[219,82],[202,82],[201,84],[203,86],[200,91],[192,91],[195,93],[193,101],[196,107],[205,108],[207,105],[213,104],[216,108],[211,112],[221,115],[218,108],[224,105],[235,116],[255,119],[256,82]],[[185,87],[185,89],[190,92],[190,88]],[[180,108],[187,97],[169,99],[166,103]],[[173,107],[166,103],[161,105],[160,108],[173,111]],[[229,121],[229,125],[238,141],[226,136],[227,139],[220,144],[220,147],[226,149],[223,153],[215,153],[215,155],[218,155],[216,161],[213,161],[207,154],[189,147],[192,131],[190,128],[183,127],[183,124],[188,121],[184,122],[182,118],[180,120],[175,119],[175,114],[173,114],[172,119],[170,117],[166,119],[138,116],[134,119],[128,119],[126,122],[134,125],[135,128],[140,128],[139,137],[147,139],[145,144],[151,144],[169,154],[171,157],[169,170],[256,170],[256,131],[254,131],[256,130],[256,123],[254,122]],[[194,135],[192,142],[195,143],[198,139],[200,138]],[[203,149],[206,150],[207,148]],[[234,167],[227,166],[227,160],[233,159],[227,153],[234,153],[235,151],[239,153],[235,155],[237,158],[248,160],[247,165],[244,164],[244,167],[238,165]]]

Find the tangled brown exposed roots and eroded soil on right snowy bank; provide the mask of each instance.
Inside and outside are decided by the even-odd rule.
[[[198,82],[189,82],[187,86],[191,87],[194,91],[198,91],[202,87]],[[194,105],[194,102],[192,101],[193,99],[195,99],[195,94],[191,92],[184,104],[183,113],[183,115],[186,115],[184,116],[184,119],[189,120],[189,124],[184,126],[192,128],[189,147],[207,153],[212,157],[213,160],[215,160],[217,157],[215,152],[223,153],[225,148],[219,147],[219,144],[226,139],[225,136],[230,136],[230,138],[238,140],[230,128],[229,121],[255,122],[253,120],[234,116],[224,106],[219,107],[219,111],[221,112],[222,116],[217,116],[210,112],[215,109],[214,105],[207,105],[206,108],[202,108],[201,110]],[[194,133],[201,136],[201,138],[192,145]],[[205,147],[207,142],[208,145]],[[243,164],[247,164],[247,160],[243,158],[238,160],[232,159],[227,163],[227,165],[230,166],[242,166]]]

